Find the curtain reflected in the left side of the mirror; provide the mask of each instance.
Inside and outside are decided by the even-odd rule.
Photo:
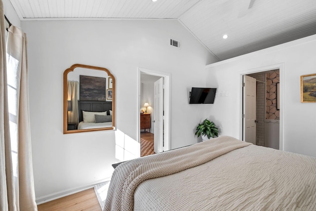
[[[68,101],[71,101],[71,111],[68,111],[68,123],[78,125],[78,82],[68,81]]]

